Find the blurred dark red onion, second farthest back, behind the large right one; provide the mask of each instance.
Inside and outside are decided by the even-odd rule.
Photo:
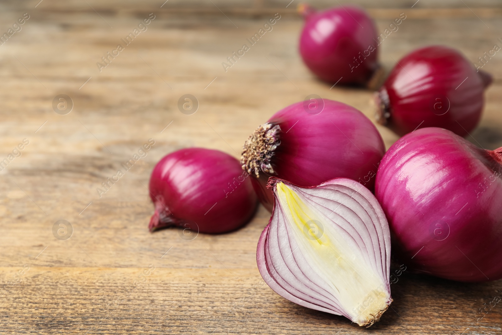
[[[377,119],[401,136],[417,127],[466,136],[479,122],[490,83],[488,73],[476,71],[456,50],[418,49],[398,62],[375,94]]]

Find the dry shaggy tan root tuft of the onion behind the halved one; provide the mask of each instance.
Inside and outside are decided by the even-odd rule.
[[[240,164],[242,169],[249,174],[255,174],[258,178],[260,172],[275,174],[271,159],[274,151],[281,144],[279,133],[281,127],[272,123],[266,123],[258,127],[242,147]]]

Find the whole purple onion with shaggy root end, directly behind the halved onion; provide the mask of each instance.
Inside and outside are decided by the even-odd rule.
[[[319,98],[293,103],[258,127],[244,144],[241,163],[253,175],[258,197],[272,211],[269,176],[303,187],[346,177],[372,190],[384,153],[382,137],[359,110]]]

